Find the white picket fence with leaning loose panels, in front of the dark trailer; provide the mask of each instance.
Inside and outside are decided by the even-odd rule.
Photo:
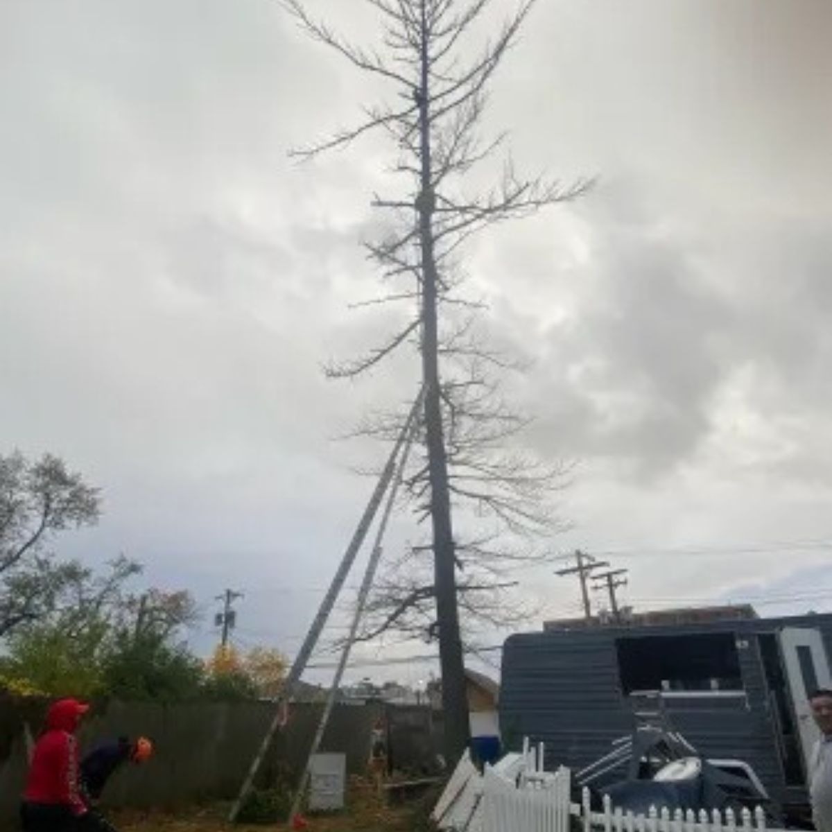
[[[433,819],[448,832],[569,832],[572,819],[582,832],[785,832],[766,826],[765,812],[667,809],[636,815],[615,809],[604,799],[603,810],[593,811],[590,792],[572,803],[571,773],[560,768],[547,772],[543,748],[527,743],[522,754],[506,755],[480,775],[468,756],[460,760]]]

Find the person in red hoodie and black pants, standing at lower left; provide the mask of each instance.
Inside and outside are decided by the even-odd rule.
[[[47,712],[47,726],[37,740],[21,805],[23,832],[70,832],[82,829],[87,806],[79,790],[75,732],[89,706],[62,699]]]

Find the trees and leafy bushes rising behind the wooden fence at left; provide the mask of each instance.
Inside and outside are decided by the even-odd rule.
[[[0,689],[124,700],[275,696],[278,651],[220,649],[210,661],[185,640],[199,615],[186,590],[131,590],[141,565],[120,556],[96,571],[52,542],[92,526],[101,493],[46,454],[0,455]]]

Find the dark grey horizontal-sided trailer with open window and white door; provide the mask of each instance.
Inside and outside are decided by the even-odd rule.
[[[745,760],[775,802],[806,804],[818,731],[807,696],[832,686],[832,614],[758,618],[740,608],[651,613],[631,623],[510,636],[499,703],[503,741],[545,743],[548,765],[582,768],[629,734],[639,694],[711,758]],[[752,611],[753,612],[753,611]]]

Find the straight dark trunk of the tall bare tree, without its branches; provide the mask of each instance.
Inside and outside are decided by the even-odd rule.
[[[444,751],[455,765],[468,746],[468,697],[465,685],[463,646],[457,609],[456,554],[448,491],[448,458],[445,450],[439,387],[438,273],[433,240],[435,207],[431,166],[428,84],[428,25],[422,2],[421,89],[419,90],[419,146],[421,155],[418,197],[419,235],[422,255],[422,372],[425,388],[424,422],[427,434],[430,516],[433,522],[434,588],[442,668]]]

